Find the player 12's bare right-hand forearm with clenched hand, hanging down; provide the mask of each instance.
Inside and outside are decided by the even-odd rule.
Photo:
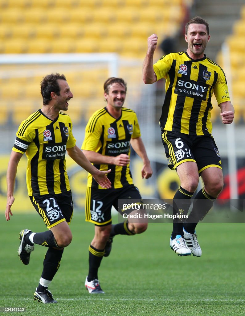
[[[130,144],[133,147],[134,151],[143,161],[143,168],[141,169],[142,179],[148,179],[152,176],[152,168],[150,161],[146,154],[146,149],[143,144],[141,137],[131,138]]]

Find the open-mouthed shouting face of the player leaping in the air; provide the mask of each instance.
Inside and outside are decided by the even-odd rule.
[[[204,57],[204,51],[210,35],[207,33],[206,25],[190,24],[188,32],[185,34],[185,40],[188,43],[187,53],[192,59]]]

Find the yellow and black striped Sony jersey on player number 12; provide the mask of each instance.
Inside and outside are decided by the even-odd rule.
[[[89,119],[81,149],[95,151],[106,156],[130,155],[131,137],[140,137],[136,113],[123,107],[121,116],[115,119],[104,107],[94,112]],[[94,164],[94,166],[100,170],[111,169],[111,173],[108,173],[107,177],[115,189],[133,184],[129,163],[124,167],[105,164]],[[87,185],[102,189],[91,174],[88,174]]]

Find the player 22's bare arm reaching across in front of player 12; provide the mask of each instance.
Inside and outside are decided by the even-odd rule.
[[[87,172],[91,173],[93,178],[96,182],[99,183],[99,185],[104,189],[110,189],[111,188],[111,181],[107,178],[106,174],[111,172],[110,170],[107,171],[101,171],[95,168],[91,162],[89,162],[86,158],[86,156],[83,154],[81,149],[75,145],[72,148],[66,149],[68,152],[68,155],[83,169],[85,169]]]

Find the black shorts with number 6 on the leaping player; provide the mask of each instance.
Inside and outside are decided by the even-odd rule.
[[[212,135],[194,136],[162,131],[162,142],[170,169],[176,169],[186,161],[196,162],[199,174],[209,167],[222,169],[218,147]]]

